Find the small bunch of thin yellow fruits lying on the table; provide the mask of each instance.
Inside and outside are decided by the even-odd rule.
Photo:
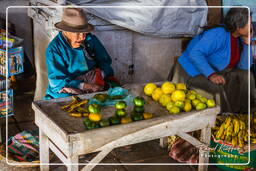
[[[72,102],[62,106],[61,108],[69,113],[73,117],[86,117],[89,115],[87,108],[83,107],[88,103],[88,100],[81,100],[77,96],[72,96]]]

